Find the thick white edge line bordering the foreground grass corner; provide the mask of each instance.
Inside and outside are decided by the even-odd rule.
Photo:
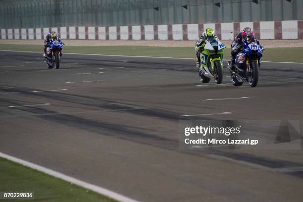
[[[135,201],[135,200],[130,199],[128,197],[125,197],[123,195],[120,195],[118,193],[115,193],[115,192],[109,191],[107,189],[104,189],[102,187],[99,187],[99,186],[96,186],[96,185],[93,185],[93,184],[89,184],[87,182],[84,182],[84,181],[78,180],[76,178],[73,178],[73,177],[64,175],[62,173],[56,172],[54,170],[50,170],[49,168],[46,168],[46,167],[43,167],[43,166],[31,163],[31,162],[22,160],[20,158],[16,158],[16,157],[7,155],[7,154],[2,153],[2,152],[0,152],[0,157],[6,158],[6,159],[11,160],[13,162],[22,164],[22,165],[24,165],[26,167],[30,167],[32,169],[35,169],[35,170],[38,170],[40,172],[46,173],[46,174],[51,175],[53,177],[65,180],[67,182],[70,182],[72,184],[78,185],[80,187],[92,190],[94,192],[97,192],[97,193],[99,193],[101,195],[104,195],[106,197],[115,199],[115,200],[120,201],[120,202],[138,202],[138,201]]]

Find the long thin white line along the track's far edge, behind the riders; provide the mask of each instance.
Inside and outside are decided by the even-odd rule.
[[[23,51],[23,50],[0,50],[0,51],[11,51],[11,52],[32,52],[32,53],[41,53],[38,51]],[[145,57],[145,58],[166,58],[166,59],[191,59],[195,58],[181,58],[181,57],[154,57],[154,56],[131,56],[131,55],[108,55],[108,54],[89,54],[89,53],[71,53],[65,52],[64,54],[78,54],[78,55],[99,55],[99,56],[113,56],[113,57]],[[228,60],[224,60],[228,61]],[[273,62],[273,61],[262,61],[262,62],[272,62],[272,63],[288,63],[288,64],[303,64],[303,62]]]

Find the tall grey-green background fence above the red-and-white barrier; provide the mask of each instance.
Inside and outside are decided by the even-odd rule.
[[[220,7],[214,5],[218,2]],[[303,19],[303,0],[0,0],[0,28],[298,19]]]

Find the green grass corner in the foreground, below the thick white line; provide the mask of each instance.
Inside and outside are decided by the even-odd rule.
[[[32,201],[116,202],[93,191],[1,157],[0,173],[1,192],[34,191],[35,199]],[[7,201],[13,202],[14,200]]]

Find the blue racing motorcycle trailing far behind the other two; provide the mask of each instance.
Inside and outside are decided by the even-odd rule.
[[[60,40],[51,39],[50,45],[46,49],[46,57],[44,58],[48,64],[49,69],[60,67],[60,56],[63,49],[63,44]]]

